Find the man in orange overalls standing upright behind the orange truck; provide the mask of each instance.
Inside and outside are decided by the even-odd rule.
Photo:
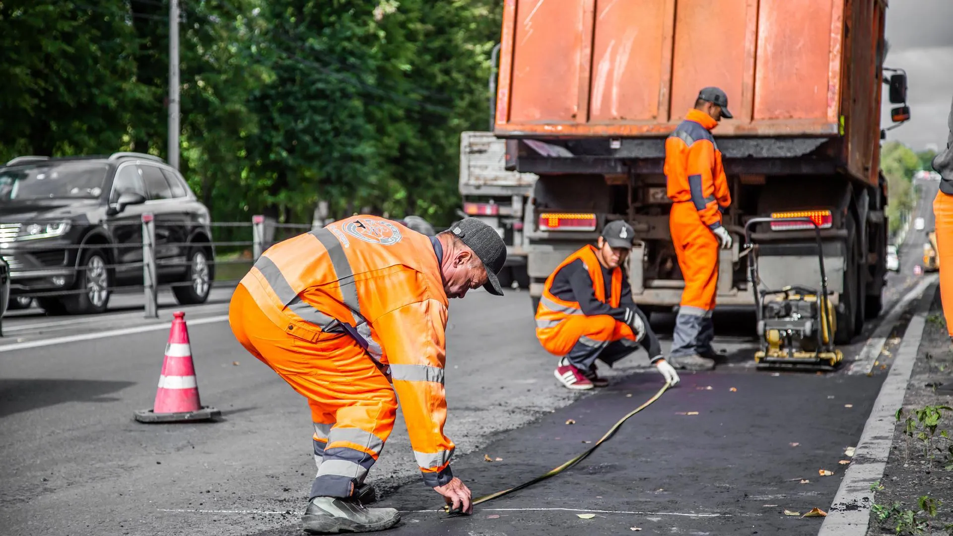
[[[670,359],[679,368],[714,368],[718,354],[712,311],[718,290],[719,246],[731,248],[721,213],[731,204],[721,153],[711,131],[731,118],[728,96],[704,88],[675,132],[665,140],[665,176],[672,199],[669,230],[685,288],[679,302]]]

